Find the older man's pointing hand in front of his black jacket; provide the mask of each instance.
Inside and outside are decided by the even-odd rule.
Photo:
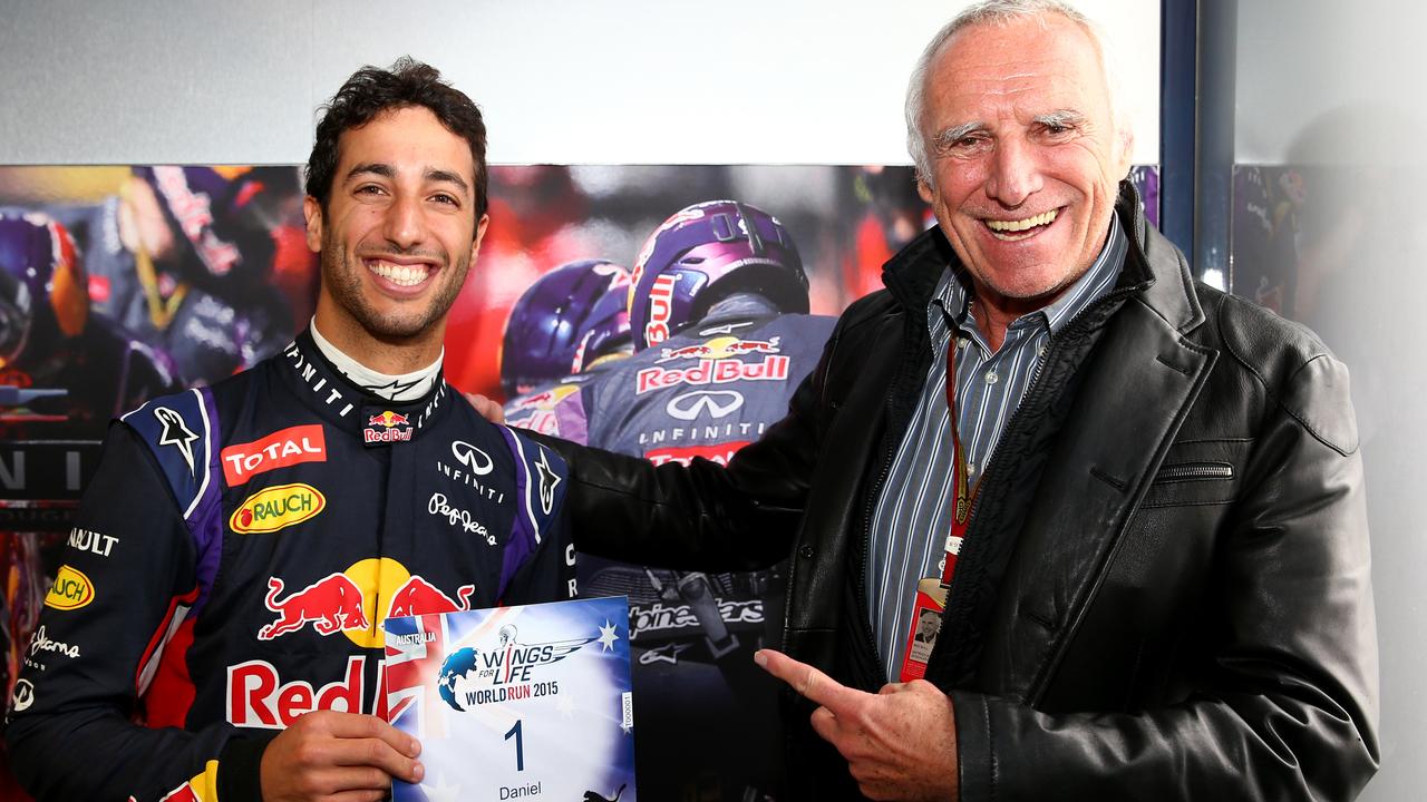
[[[812,726],[848,759],[863,795],[939,802],[960,798],[956,715],[950,698],[935,685],[916,679],[868,694],[773,649],[762,649],[753,659],[822,705],[812,714]]]

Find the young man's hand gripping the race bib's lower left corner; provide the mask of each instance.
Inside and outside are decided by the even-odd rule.
[[[264,749],[263,799],[385,799],[394,776],[421,782],[420,753],[415,738],[377,716],[311,712]]]

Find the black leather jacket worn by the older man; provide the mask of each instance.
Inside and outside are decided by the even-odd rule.
[[[962,799],[1351,799],[1378,745],[1347,372],[1196,284],[1136,210],[1123,188],[1119,284],[1052,341],[982,479],[928,669],[955,702]],[[577,545],[704,569],[791,551],[785,649],[875,691],[869,511],[955,260],[936,230],[899,253],[726,469],[562,450]],[[793,795],[856,798],[791,702]]]

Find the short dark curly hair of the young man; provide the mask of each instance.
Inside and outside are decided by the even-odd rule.
[[[327,211],[337,173],[337,140],[342,131],[360,128],[374,117],[395,108],[430,108],[452,134],[471,144],[475,163],[475,217],[485,214],[488,173],[485,168],[485,121],[481,110],[462,91],[441,80],[441,71],[402,56],[391,70],[367,66],[352,73],[332,100],[323,106],[317,141],[307,158],[307,194]]]

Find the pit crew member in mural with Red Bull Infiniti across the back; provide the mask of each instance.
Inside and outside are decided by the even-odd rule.
[[[578,402],[589,445],[656,465],[726,464],[788,412],[835,320],[808,314],[808,275],[788,228],[732,200],[672,214],[644,244],[634,277],[635,355],[562,400],[559,420],[579,420]],[[629,597],[644,691],[639,763],[685,783],[646,792],[686,796],[718,782],[721,798],[743,799],[776,785],[776,686],[751,656],[779,642],[783,571],[684,572],[581,557],[586,595]]]

